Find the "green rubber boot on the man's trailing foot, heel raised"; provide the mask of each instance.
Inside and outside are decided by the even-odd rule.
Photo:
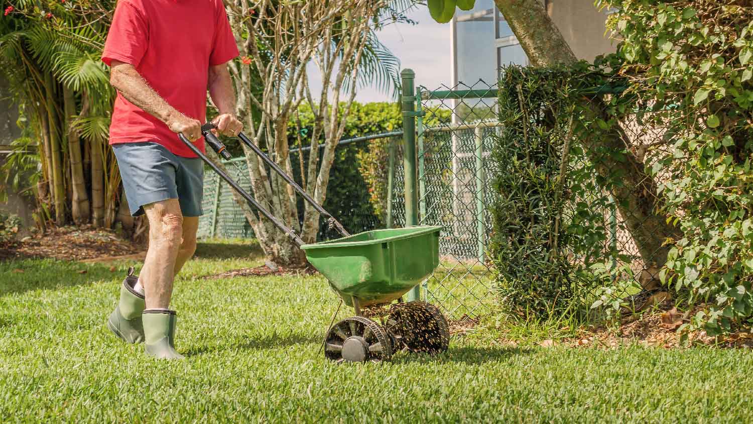
[[[133,289],[139,278],[133,275],[133,268],[128,270],[128,276],[123,279],[120,287],[120,300],[117,307],[107,320],[107,327],[126,343],[141,343],[144,341],[144,326],[142,325],[142,311],[146,307],[144,296]]]

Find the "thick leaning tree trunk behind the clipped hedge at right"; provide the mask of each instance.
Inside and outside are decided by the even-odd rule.
[[[533,66],[570,65],[578,59],[567,41],[550,19],[538,0],[495,0]],[[584,99],[584,107],[594,115],[602,115],[606,105],[602,99]],[[657,187],[645,172],[644,164],[628,151],[618,158],[600,155],[597,148],[624,151],[630,140],[618,128],[609,130],[605,139],[584,139],[590,157],[596,158],[596,168],[605,178],[621,175],[620,185],[611,188],[620,215],[630,230],[646,269],[662,267],[669,252],[662,246],[665,239],[675,238],[678,230],[666,224],[657,214]],[[598,145],[597,145],[598,143]],[[656,273],[654,273],[656,274]]]

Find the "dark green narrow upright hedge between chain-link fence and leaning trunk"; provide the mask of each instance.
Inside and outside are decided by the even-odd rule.
[[[504,306],[520,315],[583,310],[618,272],[605,227],[611,181],[595,178],[593,157],[578,142],[593,132],[579,93],[603,78],[584,63],[503,72],[489,254]]]

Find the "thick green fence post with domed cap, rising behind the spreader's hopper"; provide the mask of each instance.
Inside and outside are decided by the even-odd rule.
[[[416,185],[416,72],[403,69],[403,169],[405,171],[405,226],[419,224],[418,188]],[[421,288],[414,287],[407,293],[407,300],[420,300]]]

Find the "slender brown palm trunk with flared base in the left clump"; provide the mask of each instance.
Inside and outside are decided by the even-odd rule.
[[[68,87],[63,87],[63,102],[66,111],[66,134],[68,136],[68,151],[71,157],[71,186],[73,199],[71,214],[76,224],[84,224],[89,221],[89,196],[87,185],[84,180],[84,162],[81,160],[81,139],[73,130],[72,121],[76,114],[76,101],[74,93]]]

